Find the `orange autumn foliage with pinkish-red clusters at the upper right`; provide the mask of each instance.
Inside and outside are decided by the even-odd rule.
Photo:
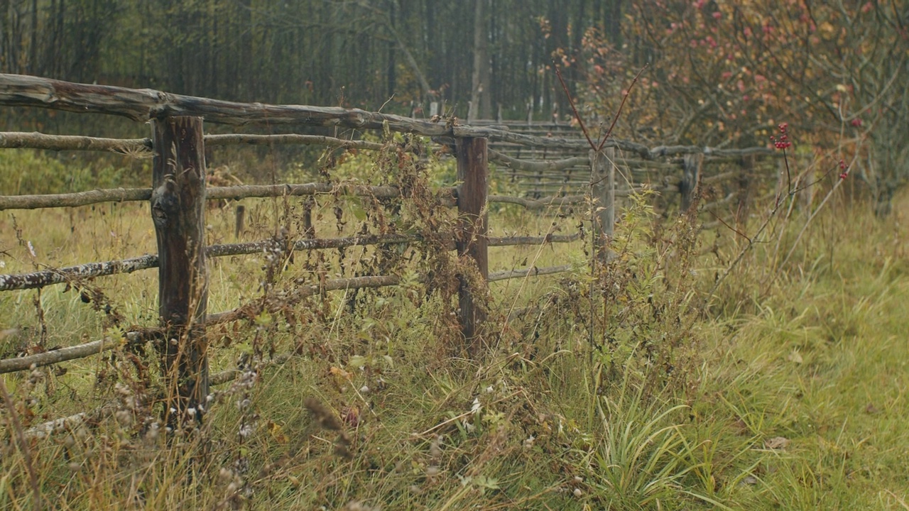
[[[594,28],[564,65],[586,77],[582,97],[607,118],[647,65],[618,135],[657,144],[755,145],[789,123],[793,142],[830,168],[844,160],[885,214],[909,177],[895,142],[909,125],[909,11],[867,2],[660,0],[633,5],[633,48]],[[883,208],[883,209],[882,209]]]

